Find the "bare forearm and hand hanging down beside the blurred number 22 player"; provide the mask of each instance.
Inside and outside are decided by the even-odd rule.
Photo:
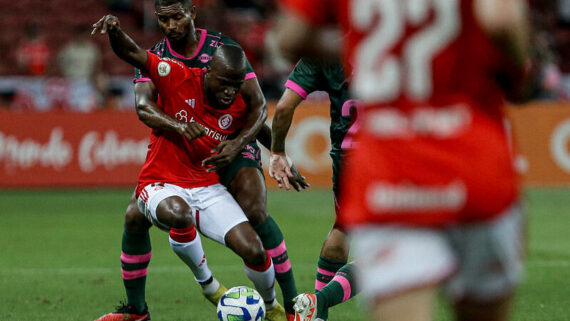
[[[295,109],[303,101],[293,90],[287,88],[275,107],[271,128],[271,157],[269,159],[269,176],[273,177],[279,187],[291,188],[290,180],[294,177],[285,155],[285,138],[293,122]]]

